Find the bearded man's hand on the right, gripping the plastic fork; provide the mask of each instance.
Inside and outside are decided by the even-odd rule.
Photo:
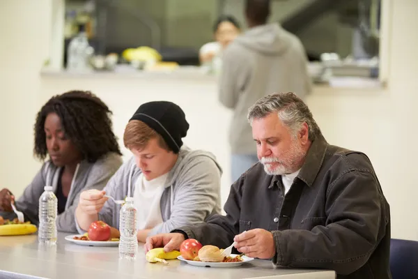
[[[235,248],[248,257],[271,259],[276,254],[273,234],[265,229],[251,229],[235,236]]]

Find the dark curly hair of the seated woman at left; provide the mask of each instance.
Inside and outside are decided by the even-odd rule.
[[[68,91],[49,99],[36,116],[33,155],[40,160],[47,157],[44,124],[52,112],[61,119],[65,136],[75,144],[83,159],[95,163],[109,152],[121,155],[109,107],[90,91]]]

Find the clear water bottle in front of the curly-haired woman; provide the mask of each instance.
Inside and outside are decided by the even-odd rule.
[[[58,200],[52,186],[45,186],[45,192],[39,198],[39,243],[56,244],[56,213]]]

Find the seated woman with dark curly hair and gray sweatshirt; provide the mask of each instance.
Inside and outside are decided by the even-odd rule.
[[[74,212],[83,190],[102,190],[122,165],[121,151],[112,131],[111,111],[88,91],[69,91],[48,100],[36,118],[34,156],[43,163],[22,197],[0,191],[0,215],[15,218],[11,208],[24,213],[25,221],[38,225],[39,197],[52,186],[58,199],[57,229],[77,232]]]

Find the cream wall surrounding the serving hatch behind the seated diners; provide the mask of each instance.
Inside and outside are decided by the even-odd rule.
[[[308,104],[329,142],[364,151],[370,156],[391,204],[392,236],[418,240],[418,223],[414,216],[418,211],[418,188],[414,176],[418,157],[415,140],[415,119],[418,119],[418,34],[415,30],[418,17],[415,10],[418,9],[418,1],[383,1],[383,6],[389,7],[390,11],[384,19],[389,26],[388,45],[385,47],[387,56],[384,57],[389,69],[389,87],[381,91],[317,87]],[[40,66],[48,49],[49,8],[47,0],[36,3],[16,0],[5,1],[0,9],[0,186],[9,187],[17,195],[22,193],[39,167],[31,157],[31,129],[35,113],[47,96],[73,87],[89,87],[97,91],[111,102],[109,105],[115,111],[116,130],[121,136],[122,123],[134,104],[118,103],[116,99],[126,96],[142,101],[144,93],[154,93],[152,89],[144,92],[139,80],[60,81],[40,77]],[[199,82],[185,85],[187,91],[196,91],[192,99],[185,99],[186,95],[181,91],[171,94],[170,84],[159,86],[164,89],[158,93],[161,98],[172,98],[187,106],[189,114],[196,115],[196,119],[193,117],[190,121],[199,133],[204,130],[205,124],[219,123],[219,134],[209,133],[199,139],[203,139],[202,145],[205,146],[215,142],[213,149],[225,152],[220,160],[227,166],[228,149],[221,142],[225,138],[226,121],[217,119],[219,122],[212,122],[212,116],[219,114],[223,120],[227,112],[219,107],[209,115],[199,114],[206,103],[215,107],[215,95],[199,95]],[[194,140],[190,144],[199,143],[198,130],[191,130],[190,136]]]

